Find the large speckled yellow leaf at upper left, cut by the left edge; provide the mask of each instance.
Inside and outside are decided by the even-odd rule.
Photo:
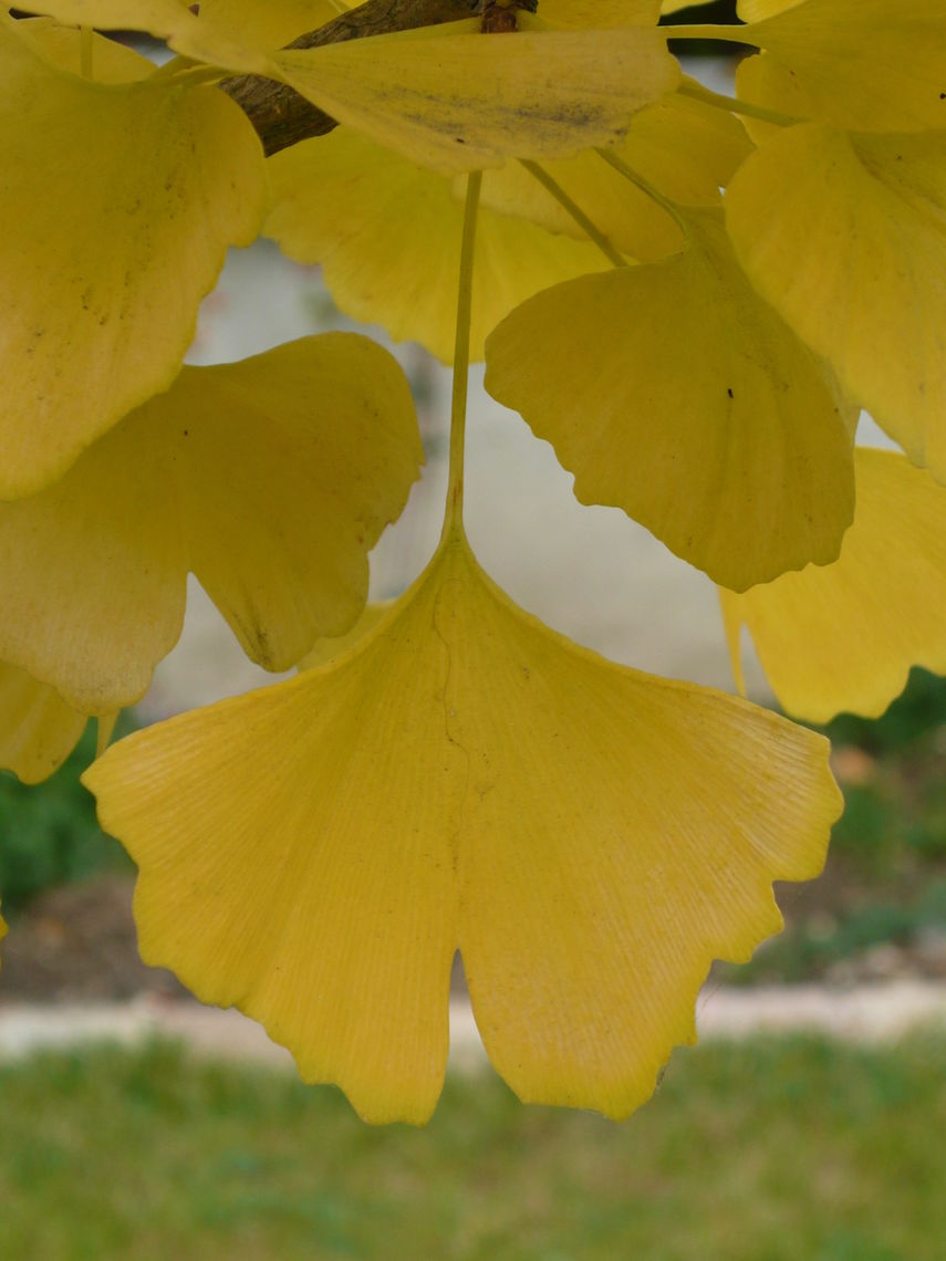
[[[91,83],[15,28],[0,15],[0,498],[170,385],[264,214],[260,142],[222,92]]]

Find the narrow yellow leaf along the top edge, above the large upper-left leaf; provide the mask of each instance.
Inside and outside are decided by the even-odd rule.
[[[257,44],[256,38],[266,37],[270,28],[281,30],[280,19],[284,16],[289,19],[289,25],[295,25],[293,11],[303,5],[300,0],[266,0],[265,6],[257,8],[272,8],[272,21],[254,21],[245,32],[241,19],[247,8],[238,0],[204,0],[202,4],[193,4],[192,0],[24,0],[18,5],[18,9],[47,14],[71,26],[146,30],[156,39],[166,40],[174,52],[184,57],[237,73],[274,73],[266,52],[279,44]],[[323,10],[327,5],[314,0],[313,8]],[[320,21],[313,25],[320,25]]]

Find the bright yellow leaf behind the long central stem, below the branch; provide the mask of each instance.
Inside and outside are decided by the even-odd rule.
[[[274,209],[266,235],[293,259],[320,264],[347,314],[383,324],[395,340],[420,342],[449,363],[463,224],[463,202],[452,179],[347,127],[294,145],[270,158],[267,166]],[[472,357],[482,358],[486,334],[518,303],[605,266],[587,241],[483,209]]]

